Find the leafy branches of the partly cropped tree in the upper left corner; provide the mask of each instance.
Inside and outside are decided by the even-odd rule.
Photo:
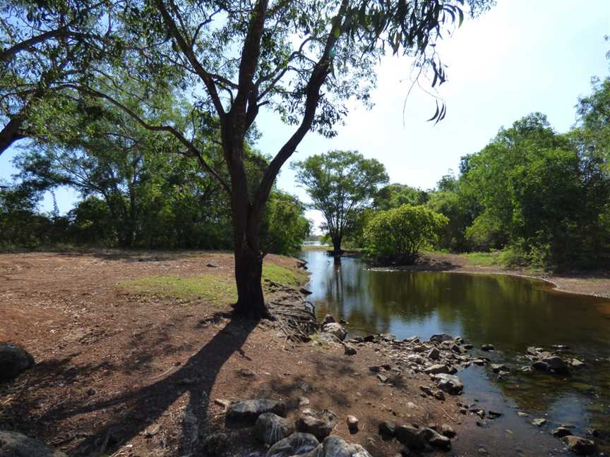
[[[92,61],[116,53],[111,10],[104,0],[0,0],[0,155],[32,136],[30,116],[40,102],[85,78]]]

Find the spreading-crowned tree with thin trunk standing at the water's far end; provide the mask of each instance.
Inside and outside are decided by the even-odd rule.
[[[360,212],[388,182],[385,167],[356,151],[330,151],[295,162],[297,182],[306,188],[311,206],[322,212],[336,255]]]

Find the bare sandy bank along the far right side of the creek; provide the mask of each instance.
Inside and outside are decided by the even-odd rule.
[[[445,252],[424,252],[417,264],[390,267],[390,269],[469,274],[506,274],[531,279],[542,279],[552,284],[554,290],[559,292],[610,298],[610,272],[607,271],[574,271],[553,274],[527,268],[510,269],[490,264],[489,261],[480,260],[477,257],[469,257],[466,254],[450,254]]]

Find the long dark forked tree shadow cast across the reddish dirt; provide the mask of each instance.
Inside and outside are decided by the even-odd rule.
[[[234,317],[184,366],[167,377],[109,400],[87,406],[64,403],[49,412],[56,420],[106,409],[115,412],[110,420],[101,425],[97,425],[99,422],[92,423],[93,431],[80,441],[70,455],[112,454],[119,444],[136,437],[152,425],[184,394],[189,394],[189,405],[184,412],[179,455],[190,453],[205,424],[208,398],[218,373],[231,355],[239,351],[257,324],[256,320]]]

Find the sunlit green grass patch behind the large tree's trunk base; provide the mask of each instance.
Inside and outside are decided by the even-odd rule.
[[[263,281],[268,279],[286,286],[299,286],[307,277],[305,272],[282,267],[277,264],[263,264]],[[220,276],[209,273],[201,276],[181,278],[180,276],[149,276],[119,283],[119,287],[131,293],[147,293],[167,298],[185,300],[203,299],[218,305],[228,305],[237,301],[237,287],[232,275]]]

